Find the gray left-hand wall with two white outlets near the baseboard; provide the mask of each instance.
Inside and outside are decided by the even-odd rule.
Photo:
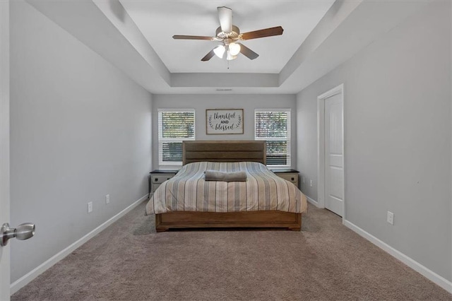
[[[151,101],[35,8],[11,2],[11,225],[37,227],[11,242],[11,281],[147,194]]]

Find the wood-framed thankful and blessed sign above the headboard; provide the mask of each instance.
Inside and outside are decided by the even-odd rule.
[[[206,110],[206,134],[243,134],[243,109]]]

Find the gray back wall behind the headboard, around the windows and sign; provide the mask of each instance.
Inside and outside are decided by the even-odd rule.
[[[288,108],[291,111],[292,167],[297,166],[295,120],[296,96],[286,95],[153,95],[153,145],[158,145],[157,110],[159,108],[194,108],[196,140],[254,140],[254,110],[264,108]],[[244,109],[244,134],[207,135],[206,109]],[[157,147],[153,152],[153,166],[158,166]]]

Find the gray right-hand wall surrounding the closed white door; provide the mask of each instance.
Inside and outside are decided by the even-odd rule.
[[[297,167],[315,184],[302,190],[317,199],[316,98],[344,83],[347,220],[448,281],[450,5],[429,4],[297,95]]]

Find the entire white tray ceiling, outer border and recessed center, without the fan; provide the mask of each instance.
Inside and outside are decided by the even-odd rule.
[[[294,94],[340,66],[431,0],[25,0],[156,94]],[[260,54],[201,58],[215,42],[217,6],[242,33],[281,25],[283,35],[246,40]],[[338,85],[339,83],[336,83]],[[333,87],[331,87],[333,88]]]

